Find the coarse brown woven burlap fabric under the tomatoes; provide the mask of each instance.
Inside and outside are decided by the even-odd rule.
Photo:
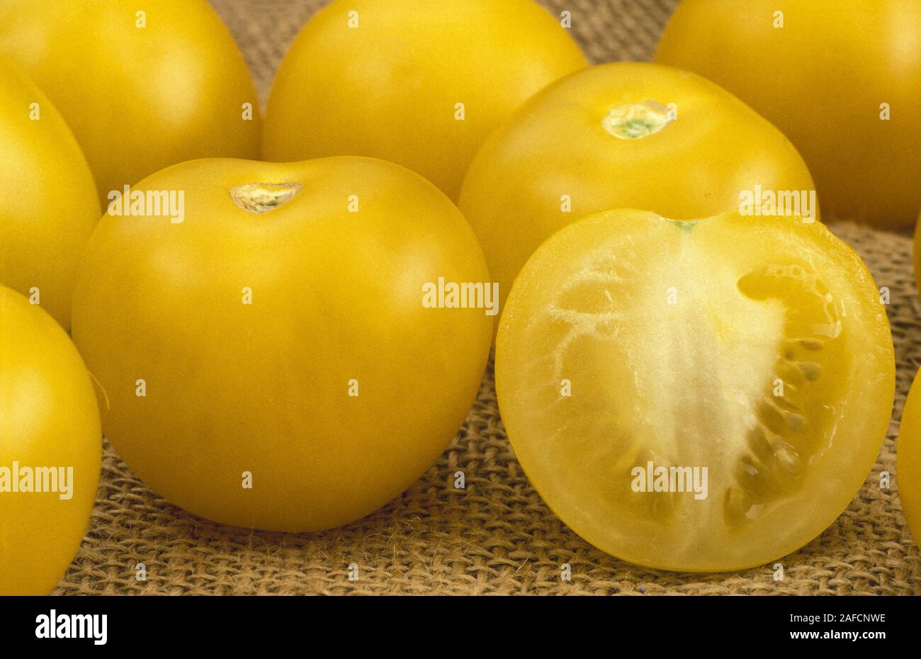
[[[297,30],[321,0],[212,0],[239,41],[263,96]],[[593,62],[648,59],[674,0],[548,0],[573,13]],[[562,524],[512,453],[492,371],[449,448],[402,497],[366,519],[314,535],[228,528],[171,506],[107,445],[87,536],[60,594],[921,594],[921,556],[899,507],[895,436],[921,359],[921,302],[907,234],[851,223],[833,230],[892,291],[898,361],[894,416],[880,458],[850,507],[821,537],[770,566],[731,574],[649,571],[600,552]],[[453,488],[465,472],[467,488]],[[145,582],[135,565],[146,565]],[[358,580],[349,581],[350,564]],[[572,566],[572,581],[560,566]]]

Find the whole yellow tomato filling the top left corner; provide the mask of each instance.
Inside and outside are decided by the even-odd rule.
[[[205,0],[5,0],[0,55],[64,115],[103,206],[182,160],[259,154],[250,73]]]

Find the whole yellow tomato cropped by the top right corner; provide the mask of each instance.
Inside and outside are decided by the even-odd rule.
[[[894,228],[921,208],[921,3],[695,0],[656,59],[706,76],[799,148],[826,216]]]

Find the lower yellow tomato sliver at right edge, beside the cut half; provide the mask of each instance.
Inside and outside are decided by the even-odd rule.
[[[895,482],[908,528],[921,545],[921,378],[915,376],[905,400],[896,446]]]

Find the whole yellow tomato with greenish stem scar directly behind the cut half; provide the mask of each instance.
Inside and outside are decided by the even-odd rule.
[[[749,194],[810,202],[812,190],[796,149],[740,100],[694,74],[624,62],[578,71],[528,101],[480,149],[458,206],[505,300],[542,241],[591,213],[699,218]]]

